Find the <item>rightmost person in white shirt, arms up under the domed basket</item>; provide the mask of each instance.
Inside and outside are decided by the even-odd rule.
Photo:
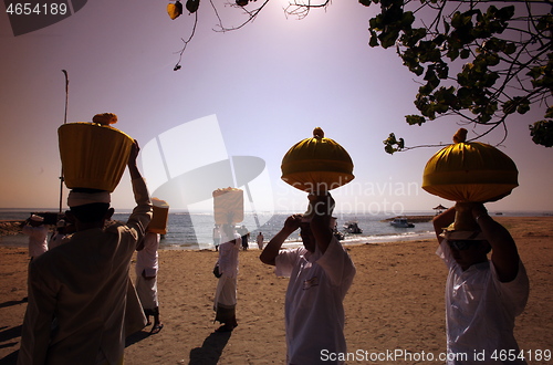
[[[455,230],[450,223],[458,209],[470,209],[476,230]],[[494,357],[500,359],[504,354],[517,356],[503,363],[525,364],[518,356],[513,330],[515,316],[526,305],[529,280],[509,231],[488,216],[482,204],[458,202],[437,216],[434,227],[439,242],[436,253],[449,269],[448,364],[495,363]]]

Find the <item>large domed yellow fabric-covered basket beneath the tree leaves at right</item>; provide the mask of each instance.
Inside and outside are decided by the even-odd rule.
[[[513,160],[498,148],[457,143],[436,153],[426,164],[422,189],[453,201],[494,201],[519,186]]]

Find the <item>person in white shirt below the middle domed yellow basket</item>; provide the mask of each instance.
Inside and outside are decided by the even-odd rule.
[[[330,194],[309,198],[312,215],[288,217],[260,260],[274,265],[276,275],[290,278],[284,309],[286,364],[342,364],[335,356],[346,354],[343,301],[356,270],[332,232],[334,199]],[[303,247],[280,250],[298,228]]]

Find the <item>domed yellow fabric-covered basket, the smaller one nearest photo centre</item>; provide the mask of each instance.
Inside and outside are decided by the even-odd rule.
[[[336,142],[325,137],[305,138],[282,158],[282,180],[307,192],[332,190],[353,180],[353,161]]]

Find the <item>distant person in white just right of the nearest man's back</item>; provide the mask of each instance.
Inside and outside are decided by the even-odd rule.
[[[150,232],[146,229],[146,236],[136,247],[136,293],[140,299],[142,307],[146,320],[149,322],[149,316],[154,317],[154,325],[150,334],[156,334],[164,327],[159,320],[159,301],[157,298],[157,271],[159,248],[159,234]]]

